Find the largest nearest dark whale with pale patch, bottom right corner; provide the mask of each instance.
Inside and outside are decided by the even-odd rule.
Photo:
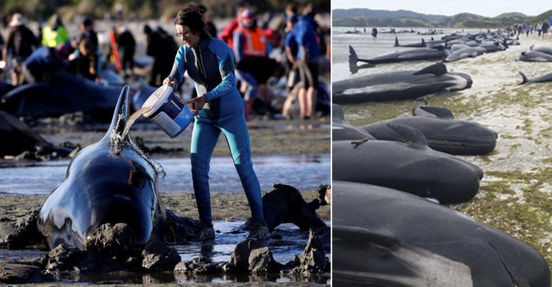
[[[550,286],[539,252],[453,209],[374,185],[332,189],[335,286]]]

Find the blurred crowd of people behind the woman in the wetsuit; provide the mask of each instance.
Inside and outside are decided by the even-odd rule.
[[[326,40],[329,29],[315,20],[315,6],[307,4],[298,13],[299,7],[289,4],[285,11],[265,13],[261,18],[253,7],[240,7],[236,18],[220,32],[212,22],[212,14],[205,6],[202,8],[209,35],[219,37],[234,50],[238,88],[247,110],[272,117],[277,111],[268,81],[286,77],[290,96],[279,107],[282,115],[291,118],[290,111],[297,101],[299,117],[309,119],[316,115],[318,78],[321,72],[329,71],[330,43]],[[39,25],[36,33],[21,13],[3,20],[8,33],[6,39],[0,33],[0,60],[4,63],[0,64],[0,71],[13,86],[48,81],[59,71],[96,82],[100,82],[105,69],[130,78],[136,76],[135,66],[141,64],[135,59],[137,41],[124,21],[114,22],[108,45],[100,47],[95,20],[90,17],[79,21],[78,35],[69,35],[58,14]],[[177,43],[176,37],[161,25],[146,24],[143,33],[147,39],[146,55],[153,60],[147,82],[161,86],[182,43]]]

